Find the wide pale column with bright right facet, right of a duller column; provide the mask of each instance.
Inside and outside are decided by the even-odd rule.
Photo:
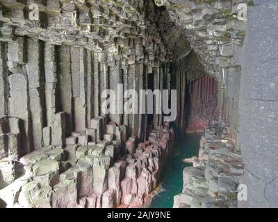
[[[87,127],[87,53],[83,47],[72,46],[72,97],[74,131],[81,132]]]

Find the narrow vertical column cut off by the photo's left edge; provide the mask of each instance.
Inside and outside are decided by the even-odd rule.
[[[6,43],[0,42],[0,116],[8,114],[8,69]]]

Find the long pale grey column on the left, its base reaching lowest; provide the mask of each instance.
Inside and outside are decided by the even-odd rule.
[[[44,127],[44,58],[43,45],[37,38],[27,38],[28,97],[30,103],[32,139],[34,148],[42,147]]]

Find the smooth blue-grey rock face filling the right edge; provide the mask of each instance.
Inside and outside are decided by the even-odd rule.
[[[254,4],[242,55],[238,140],[248,200],[240,207],[277,207],[278,2]]]

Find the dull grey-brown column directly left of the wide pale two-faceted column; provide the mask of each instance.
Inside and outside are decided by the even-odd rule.
[[[74,129],[72,117],[72,73],[70,46],[58,47],[58,101],[56,112],[65,112],[67,125],[66,135],[70,136]]]

